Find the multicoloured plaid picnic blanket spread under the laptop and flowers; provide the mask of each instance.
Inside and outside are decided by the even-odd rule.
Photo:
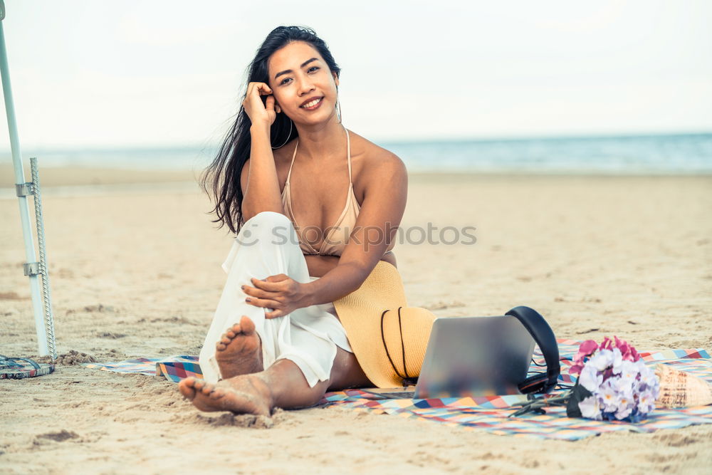
[[[559,381],[571,385],[575,376],[569,375],[580,341],[557,340],[561,361]],[[693,373],[712,382],[712,358],[706,350],[664,350],[641,352],[649,365],[663,363],[679,370]],[[542,355],[536,351],[531,371],[540,371]],[[167,358],[137,358],[115,363],[88,363],[87,367],[115,372],[132,372],[143,375],[164,376],[173,382],[184,377],[202,377],[197,356],[178,355]],[[560,393],[558,390],[554,394]],[[578,440],[604,432],[654,432],[658,429],[678,429],[697,424],[712,424],[712,405],[684,409],[655,409],[647,419],[637,424],[627,422],[603,422],[591,419],[566,417],[564,407],[548,407],[546,414],[512,417],[513,406],[526,400],[525,396],[506,395],[488,397],[449,397],[429,400],[386,400],[360,390],[328,392],[321,404],[339,406],[355,411],[375,414],[393,414],[407,419],[439,422],[441,424],[481,430],[491,434],[514,437],[538,437],[541,439]]]

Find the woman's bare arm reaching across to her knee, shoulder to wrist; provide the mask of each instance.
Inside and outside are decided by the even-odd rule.
[[[355,291],[382,258],[403,218],[408,197],[408,173],[396,155],[372,157],[365,169],[363,204],[349,244],[338,265],[305,285],[308,305],[329,303]]]

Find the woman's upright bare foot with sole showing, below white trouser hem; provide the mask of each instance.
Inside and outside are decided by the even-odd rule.
[[[224,380],[262,371],[262,344],[254,322],[246,315],[216,343],[215,359]]]

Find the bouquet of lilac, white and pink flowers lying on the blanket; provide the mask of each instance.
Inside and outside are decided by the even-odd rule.
[[[572,390],[560,396],[544,396],[522,404],[512,414],[543,412],[545,406],[565,406],[568,417],[639,422],[653,409],[660,382],[638,352],[624,340],[604,338],[583,342],[570,375],[578,375]]]

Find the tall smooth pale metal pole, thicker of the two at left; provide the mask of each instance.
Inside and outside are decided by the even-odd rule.
[[[2,92],[5,98],[5,113],[7,115],[7,126],[10,132],[10,148],[12,150],[12,165],[15,169],[15,187],[20,205],[20,221],[22,223],[22,235],[25,241],[25,273],[30,278],[30,291],[32,296],[32,309],[35,315],[35,330],[37,333],[37,345],[40,356],[48,355],[47,332],[44,325],[43,306],[40,296],[40,283],[38,273],[33,273],[38,267],[35,253],[32,226],[30,224],[30,211],[27,204],[28,192],[33,187],[25,183],[25,172],[22,167],[22,155],[20,153],[20,140],[17,134],[17,122],[15,120],[15,103],[12,100],[12,88],[10,85],[10,73],[7,66],[7,51],[5,49],[5,33],[2,27],[2,20],[5,18],[5,4],[0,0],[0,75],[2,78]]]

